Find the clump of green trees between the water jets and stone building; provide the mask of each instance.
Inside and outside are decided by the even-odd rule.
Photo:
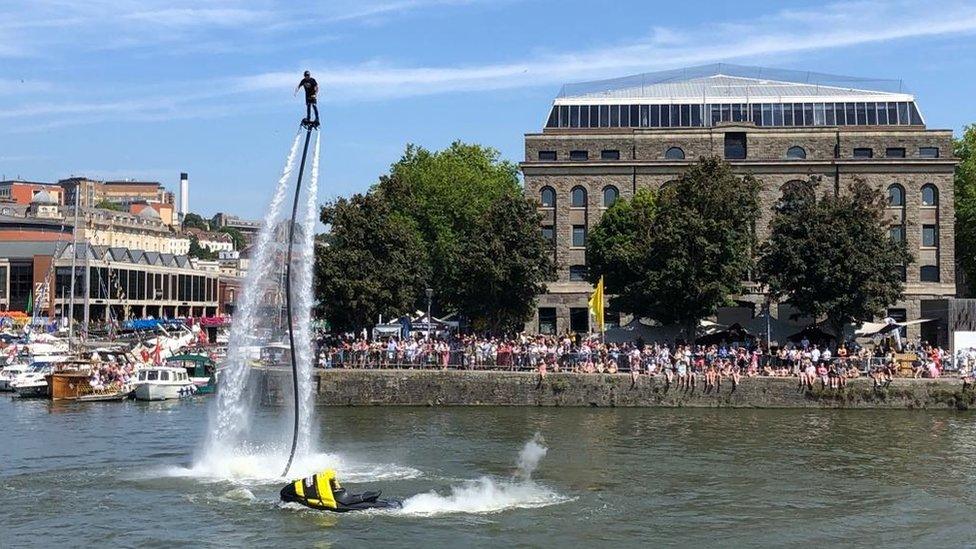
[[[551,272],[516,166],[479,145],[410,145],[367,195],[323,208],[322,222],[332,232],[318,247],[318,297],[339,329],[424,309],[430,287],[435,314],[511,330]]]

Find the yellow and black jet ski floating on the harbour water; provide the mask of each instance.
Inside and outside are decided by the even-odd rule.
[[[281,489],[281,501],[299,503],[312,509],[345,513],[365,509],[399,509],[398,499],[380,499],[380,492],[351,494],[336,479],[332,469],[298,479]]]

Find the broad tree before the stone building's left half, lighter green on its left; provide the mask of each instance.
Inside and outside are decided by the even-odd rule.
[[[638,206],[601,219],[589,276],[610,275],[611,307],[680,324],[694,339],[702,318],[742,292],[753,265],[759,183],[718,158],[702,158],[658,193],[655,206],[646,198]]]

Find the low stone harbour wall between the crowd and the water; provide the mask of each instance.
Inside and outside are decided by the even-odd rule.
[[[285,404],[287,370],[261,370],[264,402]],[[440,370],[323,370],[315,374],[319,406],[570,406],[664,408],[956,409],[976,407],[976,391],[959,379],[895,379],[875,388],[856,379],[843,389],[797,387],[795,378],[743,378],[733,391],[668,387],[663,377]]]

